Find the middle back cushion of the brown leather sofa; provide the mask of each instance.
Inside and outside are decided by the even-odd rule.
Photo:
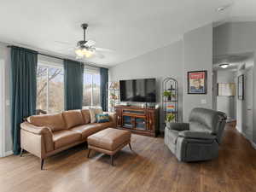
[[[69,110],[63,112],[63,117],[66,121],[67,129],[70,129],[77,125],[84,124],[84,118],[81,110]]]

